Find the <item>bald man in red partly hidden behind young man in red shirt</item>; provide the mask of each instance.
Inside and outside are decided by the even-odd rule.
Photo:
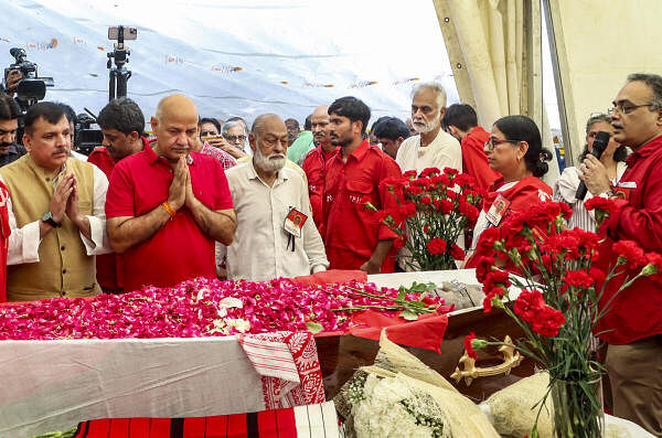
[[[310,117],[312,138],[317,148],[308,152],[303,160],[303,171],[308,177],[308,194],[312,206],[312,217],[320,234],[324,235],[322,200],[324,199],[324,167],[338,149],[331,145],[329,129],[329,105],[321,105]]]

